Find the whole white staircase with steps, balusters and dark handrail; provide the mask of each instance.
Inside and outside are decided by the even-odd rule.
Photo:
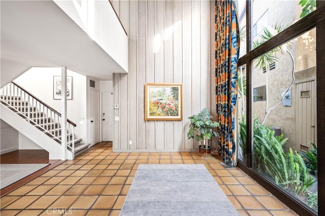
[[[27,92],[23,88],[21,88],[18,84],[11,82],[6,85],[4,88],[0,90],[0,102],[2,104],[1,110],[1,118],[4,119],[9,124],[12,125],[14,128],[17,129],[20,133],[24,134],[26,137],[43,147],[45,150],[49,152],[50,159],[58,159],[59,152],[61,152],[61,142],[62,142],[62,131],[61,131],[61,114],[51,108],[49,105],[32,95],[31,93]],[[11,111],[9,113],[8,111]],[[8,117],[12,113],[19,116],[20,119],[11,116]],[[14,120],[14,118],[16,120]],[[18,122],[19,120],[29,122],[29,129],[27,129],[22,125],[26,125],[25,122]],[[12,122],[10,122],[12,121]],[[82,153],[83,151],[87,150],[90,144],[82,144],[82,139],[78,139],[75,137],[74,128],[76,123],[72,122],[71,120],[67,120],[67,143],[66,143],[66,155],[68,159],[73,159],[76,155]],[[32,128],[37,128],[38,130],[33,131]],[[21,129],[21,131],[19,130]],[[56,144],[52,144],[50,147],[47,147],[44,143],[51,143],[47,141],[41,141],[37,136],[37,132],[44,134],[55,141]],[[42,137],[41,135],[38,135]],[[54,151],[51,153],[51,151]],[[51,155],[52,158],[51,158]],[[55,155],[55,156],[54,156]]]

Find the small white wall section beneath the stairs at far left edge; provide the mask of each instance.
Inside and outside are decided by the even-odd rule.
[[[1,120],[0,127],[0,154],[18,150],[18,131],[3,120]]]

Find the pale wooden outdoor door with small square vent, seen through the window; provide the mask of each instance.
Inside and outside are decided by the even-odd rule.
[[[315,143],[314,81],[297,84],[297,149],[308,151]],[[316,144],[316,143],[315,143]]]

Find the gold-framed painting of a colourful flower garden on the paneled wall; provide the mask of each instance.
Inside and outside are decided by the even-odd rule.
[[[146,83],[145,120],[182,120],[182,84]]]

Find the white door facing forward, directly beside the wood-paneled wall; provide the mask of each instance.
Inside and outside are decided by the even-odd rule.
[[[101,92],[101,122],[102,129],[101,141],[113,141],[113,124],[114,124],[114,108],[113,108],[113,93],[112,92]]]

